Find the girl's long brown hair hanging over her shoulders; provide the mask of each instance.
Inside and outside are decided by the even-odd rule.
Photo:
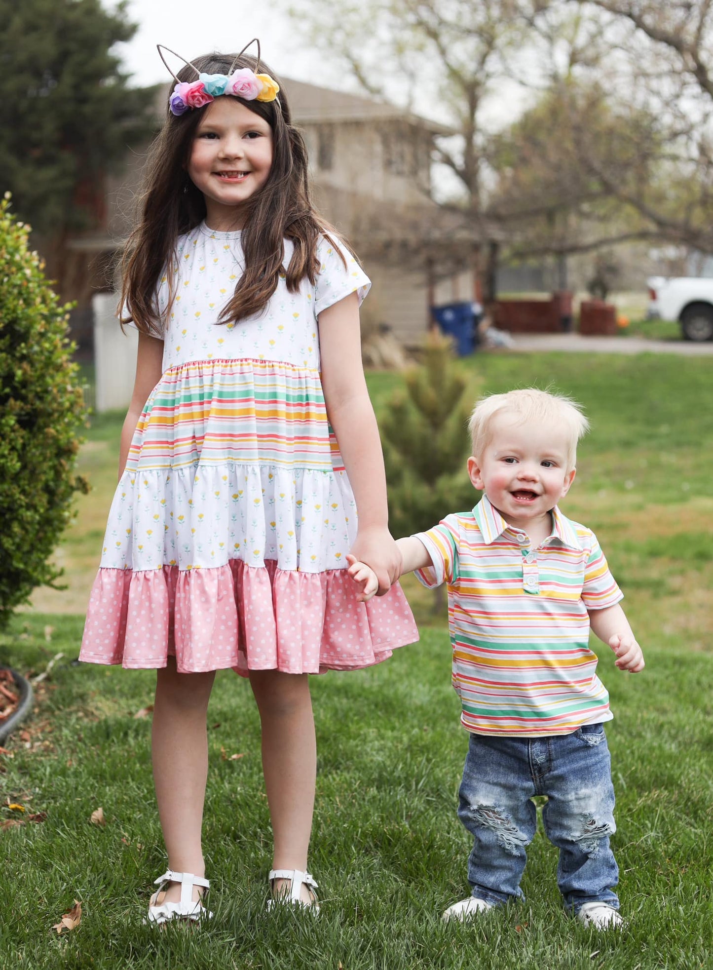
[[[237,60],[231,54],[207,54],[192,63],[206,74],[228,74],[232,66],[258,69],[257,60],[248,54],[242,54]],[[260,70],[275,78],[262,61]],[[177,77],[179,81],[196,80],[195,71],[187,65],[178,71]],[[265,185],[245,204],[242,235],[245,268],[235,293],[223,307],[219,323],[257,315],[267,306],[282,268],[284,239],[294,245],[286,269],[286,283],[287,289],[295,293],[306,276],[312,285],[316,282],[320,234],[336,237],[335,230],[320,218],[311,204],[307,148],[302,135],[292,125],[281,85],[277,97],[278,102],[236,99],[270,124],[274,156]],[[206,217],[203,194],[188,178],[187,171],[193,139],[205,111],[206,108],[196,108],[177,116],[167,109],[168,116],[146,163],[141,216],[124,249],[121,323],[133,321],[141,332],[155,337],[163,336],[158,281],[164,273],[169,280],[173,278],[178,236],[189,232]]]

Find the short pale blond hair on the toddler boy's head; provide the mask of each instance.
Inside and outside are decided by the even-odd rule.
[[[564,426],[569,435],[567,448],[567,471],[577,461],[577,442],[589,430],[589,421],[582,414],[579,404],[564,394],[551,394],[536,387],[526,387],[506,394],[491,394],[481,398],[472,410],[468,430],[472,441],[472,453],[480,458],[492,438],[493,419],[502,413],[513,414],[519,423],[535,421],[538,424]]]

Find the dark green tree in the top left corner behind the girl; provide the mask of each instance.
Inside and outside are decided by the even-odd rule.
[[[92,228],[107,171],[155,127],[153,89],[129,87],[113,52],[136,31],[126,10],[0,0],[0,193],[43,237]]]

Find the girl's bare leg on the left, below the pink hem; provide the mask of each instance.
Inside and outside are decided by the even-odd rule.
[[[176,659],[169,657],[168,665],[156,673],[151,757],[168,867],[205,876],[201,828],[208,777],[206,715],[215,672],[178,673]],[[194,900],[200,892],[193,889]],[[165,899],[179,898],[180,886],[172,883]]]

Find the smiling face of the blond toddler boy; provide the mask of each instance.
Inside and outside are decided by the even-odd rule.
[[[546,519],[549,530],[549,512],[574,479],[575,469],[567,470],[569,445],[562,426],[542,427],[498,414],[482,455],[468,460],[470,481],[509,525],[527,532]]]

